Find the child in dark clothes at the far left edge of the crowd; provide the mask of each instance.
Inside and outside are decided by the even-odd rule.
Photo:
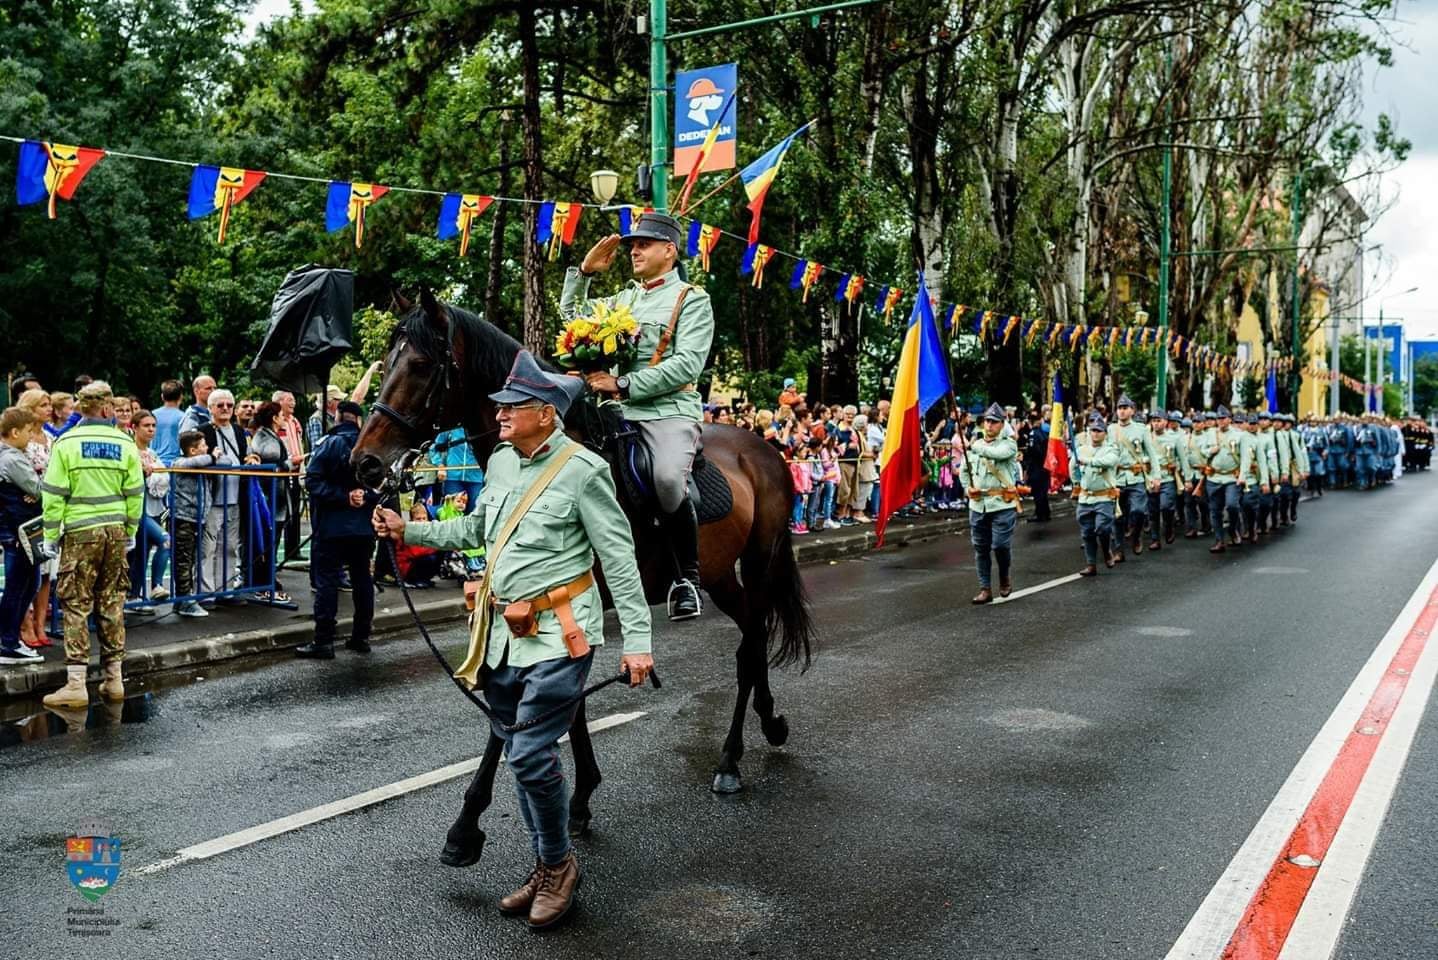
[[[0,664],[43,660],[20,641],[22,624],[40,586],[39,569],[20,545],[20,525],[40,514],[40,479],[26,447],[40,433],[40,418],[10,407],[0,414],[0,546],[4,548],[4,594],[0,595]]]

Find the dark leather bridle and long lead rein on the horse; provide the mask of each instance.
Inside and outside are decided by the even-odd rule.
[[[454,364],[454,355],[453,355],[453,351],[450,348],[449,338],[446,336],[444,338],[444,358],[443,358],[443,362],[439,364],[436,366],[434,372],[430,375],[430,379],[426,384],[426,395],[427,397],[447,395],[449,389],[450,389],[450,374],[452,372],[457,374],[459,372],[459,366]],[[443,382],[439,382],[440,378],[443,378]],[[443,388],[443,394],[439,394],[436,391],[436,387],[441,387]],[[377,411],[383,417],[388,417],[390,420],[393,420],[395,424],[398,424],[410,435],[411,440],[414,440],[417,437],[434,437],[434,435],[437,435],[440,433],[437,423],[433,423],[433,421],[437,420],[437,417],[431,417],[430,418],[431,420],[431,430],[426,431],[413,418],[401,414],[398,410],[395,410],[390,404],[385,404],[384,401],[375,401],[374,404],[371,404],[371,410]],[[406,489],[408,489],[408,490],[414,489],[414,474],[411,471],[411,467],[414,466],[414,463],[420,457],[423,457],[430,450],[439,450],[441,453],[447,453],[452,447],[457,447],[460,444],[469,444],[469,443],[472,443],[475,440],[483,440],[483,438],[486,438],[486,437],[489,437],[492,434],[496,434],[496,433],[499,433],[499,427],[498,425],[493,430],[485,430],[485,431],[480,431],[477,434],[466,434],[463,437],[450,438],[450,440],[446,440],[446,441],[426,440],[417,448],[411,447],[403,457],[400,457],[398,460],[395,460],[394,467],[390,471],[390,476],[387,476],[384,479],[384,483],[380,484],[380,487],[375,490],[375,493],[380,494],[380,497],[383,499],[384,503],[391,504],[394,507],[400,507],[400,493],[404,491]],[[615,675],[610,677],[608,680],[601,680],[597,684],[591,684],[590,687],[585,687],[577,696],[571,697],[569,700],[565,700],[564,703],[559,703],[559,704],[551,707],[549,710],[545,710],[544,713],[541,713],[538,716],[529,717],[528,720],[522,720],[522,721],[518,721],[518,723],[505,723],[498,716],[495,716],[493,709],[487,703],[485,703],[483,698],[480,698],[480,696],[477,693],[475,693],[472,688],[469,688],[467,686],[464,686],[464,681],[462,681],[459,677],[454,675],[454,668],[450,665],[449,660],[440,651],[439,645],[434,642],[434,638],[430,637],[430,631],[424,627],[424,621],[420,619],[420,612],[414,608],[414,598],[410,596],[410,588],[406,585],[404,579],[400,576],[400,558],[395,555],[394,540],[390,539],[390,537],[385,537],[384,546],[385,546],[385,550],[390,553],[390,568],[394,571],[394,575],[395,575],[394,579],[400,585],[400,594],[404,596],[404,605],[408,606],[408,609],[410,609],[410,618],[414,621],[414,627],[420,631],[420,637],[424,638],[426,645],[429,645],[430,652],[434,654],[434,658],[440,661],[440,667],[444,668],[444,673],[454,683],[454,686],[459,687],[460,693],[463,693],[464,697],[472,704],[475,704],[476,707],[479,707],[480,711],[486,717],[489,717],[489,721],[493,723],[496,727],[499,727],[503,733],[519,733],[521,730],[528,730],[531,727],[536,727],[541,723],[552,720],[554,717],[557,717],[557,716],[559,716],[559,714],[571,710],[577,704],[582,703],[584,698],[588,697],[591,693],[597,693],[597,691],[603,690],[604,687],[608,687],[610,684],[618,683],[621,680],[624,683],[628,683],[628,671],[626,670],[626,671],[623,671],[620,674],[615,674]],[[649,671],[649,678],[650,678],[650,683],[654,684],[654,690],[659,690],[660,688],[659,674],[656,674],[653,668],[650,668],[650,671]]]

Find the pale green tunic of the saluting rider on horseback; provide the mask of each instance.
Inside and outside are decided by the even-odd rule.
[[[630,369],[621,371],[630,381],[624,415],[637,421],[666,417],[683,417],[695,423],[703,420],[703,404],[695,384],[709,362],[709,346],[715,335],[715,315],[709,295],[680,280],[677,270],[670,270],[650,283],[633,280],[614,296],[591,300],[590,279],[580,273],[578,267],[565,270],[559,316],[565,322],[587,316],[597,302],[610,308],[624,305],[634,313],[640,331],[638,355]],[[674,336],[660,362],[650,366],[650,359],[669,328],[674,302],[684,286],[690,286],[690,290],[679,313]]]

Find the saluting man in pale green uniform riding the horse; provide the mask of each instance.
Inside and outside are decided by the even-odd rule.
[[[617,394],[649,448],[654,470],[664,539],[674,555],[676,576],[669,591],[669,618],[693,619],[703,611],[699,598],[699,514],[689,499],[689,473],[699,450],[702,404],[696,382],[709,361],[715,318],[709,295],[686,283],[676,269],[679,221],[646,213],[627,236],[611,234],[564,276],[559,313],[565,322],[594,310],[590,282],[614,264],[620,244],[628,244],[634,282],[603,303],[624,305],[640,328],[637,359],[618,377],[595,372],[590,388]]]

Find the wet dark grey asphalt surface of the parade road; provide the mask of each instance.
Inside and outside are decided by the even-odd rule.
[[[986,609],[966,602],[959,539],[808,568],[824,648],[775,678],[788,746],[749,714],[736,798],[707,790],[735,631],[664,624],[664,690],[591,707],[646,716],[595,734],[582,911],[542,938],[493,907],[528,868],[503,772],[477,867],[436,861],[466,777],[122,874],[101,901],[114,933],[65,936],[85,904],[63,841],[82,821],[119,835],[132,871],[476,756],[480,717],[417,638],[204,674],[127,703],[142,723],[96,709],[73,734],[12,727],[0,956],[1163,957],[1438,556],[1435,494],[1432,474],[1332,494],[1257,549],[1179,540]],[[1021,588],[1080,563],[1071,519],[1021,526],[1017,549]],[[1429,713],[1345,960],[1438,956],[1435,788]]]

